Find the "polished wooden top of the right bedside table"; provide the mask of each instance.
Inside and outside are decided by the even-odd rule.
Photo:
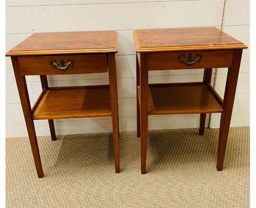
[[[138,29],[133,36],[138,53],[247,48],[216,27]]]

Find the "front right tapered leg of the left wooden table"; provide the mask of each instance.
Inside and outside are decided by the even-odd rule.
[[[117,71],[115,68],[115,54],[108,54],[108,73],[109,73],[110,102],[111,102],[111,111],[112,111],[115,173],[120,173],[118,94],[117,94]]]

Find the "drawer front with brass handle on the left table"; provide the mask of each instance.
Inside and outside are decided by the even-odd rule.
[[[107,54],[18,57],[21,75],[64,75],[107,72]]]

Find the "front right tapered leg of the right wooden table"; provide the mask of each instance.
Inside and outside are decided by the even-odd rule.
[[[219,129],[219,144],[217,157],[217,170],[219,171],[223,168],[226,142],[228,140],[229,126],[232,115],[232,108],[234,105],[241,56],[242,50],[234,50],[232,66],[228,69],[228,76],[226,77],[226,87],[223,100],[223,113],[220,118]]]

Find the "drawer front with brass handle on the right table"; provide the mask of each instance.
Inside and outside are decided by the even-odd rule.
[[[228,68],[232,50],[149,53],[149,70]]]

